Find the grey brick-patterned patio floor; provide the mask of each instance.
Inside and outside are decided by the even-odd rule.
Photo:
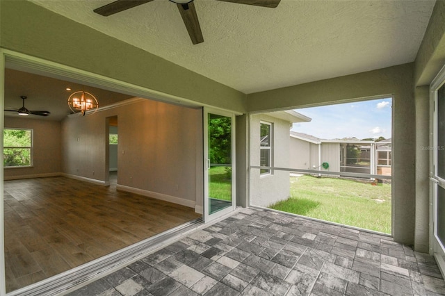
[[[245,208],[70,295],[445,295],[387,236]]]

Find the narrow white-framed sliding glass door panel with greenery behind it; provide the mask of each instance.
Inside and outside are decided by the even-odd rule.
[[[204,222],[235,208],[234,115],[204,109]]]

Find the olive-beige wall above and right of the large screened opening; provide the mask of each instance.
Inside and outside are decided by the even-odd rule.
[[[413,69],[410,63],[248,95],[248,110],[255,112],[392,96],[392,234],[394,240],[408,245],[414,244],[416,224],[412,219],[416,207]]]

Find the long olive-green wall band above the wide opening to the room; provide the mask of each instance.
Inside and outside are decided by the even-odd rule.
[[[245,113],[245,94],[233,88],[52,13],[31,1],[1,1],[0,6],[0,47],[3,49],[203,105]],[[84,44],[85,49],[73,44]]]

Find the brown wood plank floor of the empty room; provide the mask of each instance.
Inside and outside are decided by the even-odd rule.
[[[201,217],[64,177],[5,181],[4,212],[7,292]]]

